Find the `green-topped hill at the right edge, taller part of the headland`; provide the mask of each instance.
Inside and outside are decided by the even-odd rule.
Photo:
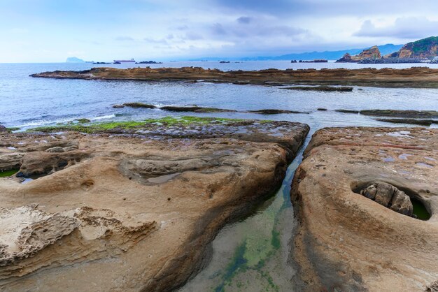
[[[433,59],[438,55],[438,36],[423,38],[412,43],[407,43],[398,52],[388,54],[393,58],[427,58]]]

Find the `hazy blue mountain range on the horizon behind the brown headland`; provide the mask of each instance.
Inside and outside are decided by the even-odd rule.
[[[387,45],[377,46],[381,54],[391,54],[397,52],[402,48],[403,45],[393,45],[391,43]],[[269,60],[314,60],[314,59],[327,59],[327,60],[337,60],[348,53],[351,55],[360,54],[363,50],[367,50],[372,47],[362,48],[362,49],[348,49],[339,51],[325,51],[325,52],[302,52],[295,54],[283,54],[276,57],[244,57],[244,58],[218,58],[218,57],[204,57],[199,59],[193,59],[190,61],[220,61],[220,60],[241,60],[241,61],[269,61]]]

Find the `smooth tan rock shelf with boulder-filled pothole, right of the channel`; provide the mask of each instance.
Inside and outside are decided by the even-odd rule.
[[[436,286],[437,135],[353,127],[313,135],[290,193],[299,222],[290,256],[297,291]]]

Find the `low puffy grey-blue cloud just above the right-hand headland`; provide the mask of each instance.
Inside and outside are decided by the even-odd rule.
[[[400,17],[393,24],[386,27],[377,27],[371,20],[366,20],[354,36],[411,39],[437,34],[438,21],[431,21],[423,17]]]

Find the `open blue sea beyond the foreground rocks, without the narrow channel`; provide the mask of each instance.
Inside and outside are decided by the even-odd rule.
[[[417,64],[415,64],[417,65]],[[99,80],[55,80],[31,78],[31,73],[55,70],[85,70],[91,64],[0,64],[0,124],[28,129],[32,126],[68,122],[87,118],[92,121],[144,119],[175,115],[162,110],[122,108],[112,105],[138,101],[155,105],[192,105],[259,110],[276,108],[310,112],[309,115],[275,115],[271,119],[306,122],[318,126],[369,125],[379,123],[369,117],[352,116],[316,108],[347,108],[353,110],[393,108],[413,110],[437,109],[438,89],[356,88],[350,93],[297,92],[279,87],[258,85],[228,85],[185,82],[138,82]],[[153,65],[105,65],[117,68],[129,66],[202,66],[221,70],[257,70],[262,68],[360,68],[360,64],[291,64],[288,61],[168,62]],[[369,65],[367,65],[369,66]],[[386,65],[388,66],[388,65]],[[397,64],[397,68],[410,67]],[[431,65],[432,66],[432,65]],[[438,68],[438,65],[433,65]],[[380,67],[383,67],[380,65]],[[221,117],[266,119],[263,115],[226,113]]]

